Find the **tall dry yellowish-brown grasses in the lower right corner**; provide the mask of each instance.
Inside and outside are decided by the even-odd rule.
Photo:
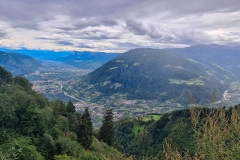
[[[196,151],[181,152],[166,142],[166,159],[240,159],[240,105],[225,110],[191,108]]]

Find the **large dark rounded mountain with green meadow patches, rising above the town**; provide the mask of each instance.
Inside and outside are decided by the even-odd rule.
[[[171,51],[134,49],[99,67],[85,80],[103,95],[122,93],[129,99],[188,104],[192,93],[199,103],[209,103],[214,89],[221,97],[226,85],[209,76],[208,70],[208,66]]]

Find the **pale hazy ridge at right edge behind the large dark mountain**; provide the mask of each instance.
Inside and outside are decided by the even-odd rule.
[[[240,76],[240,49],[238,47],[221,46],[216,44],[195,45],[187,48],[166,49],[166,51],[180,54],[187,60],[203,65],[209,76],[231,82]]]

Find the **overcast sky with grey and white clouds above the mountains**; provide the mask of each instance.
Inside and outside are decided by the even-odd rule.
[[[0,0],[0,46],[123,52],[240,45],[239,0]]]

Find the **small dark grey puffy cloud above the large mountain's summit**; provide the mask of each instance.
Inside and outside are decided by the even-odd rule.
[[[127,29],[136,35],[146,35],[148,33],[147,28],[142,23],[134,20],[126,20]]]

